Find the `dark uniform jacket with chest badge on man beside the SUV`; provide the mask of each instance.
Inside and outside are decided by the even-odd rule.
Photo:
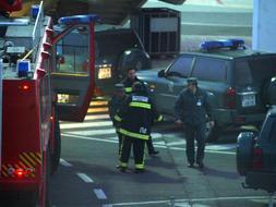
[[[175,113],[184,124],[199,125],[206,122],[206,114],[211,119],[211,106],[207,94],[197,88],[193,94],[189,89],[180,93],[176,105]]]

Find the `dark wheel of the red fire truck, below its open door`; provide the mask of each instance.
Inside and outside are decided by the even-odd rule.
[[[56,111],[57,114],[57,111]],[[61,137],[60,137],[60,125],[58,115],[55,119],[55,135],[53,135],[53,153],[51,154],[51,174],[53,174],[59,167],[60,153],[61,153]]]

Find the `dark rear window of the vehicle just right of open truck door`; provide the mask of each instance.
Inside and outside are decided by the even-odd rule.
[[[96,56],[118,56],[130,48],[141,49],[141,44],[134,33],[118,32],[96,34]]]

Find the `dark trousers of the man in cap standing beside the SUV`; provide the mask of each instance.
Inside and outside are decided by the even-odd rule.
[[[194,163],[194,139],[196,139],[197,150],[196,150],[196,163],[202,162],[204,158],[204,149],[205,149],[205,135],[206,124],[202,123],[199,125],[185,125],[185,154],[188,161],[190,163]]]

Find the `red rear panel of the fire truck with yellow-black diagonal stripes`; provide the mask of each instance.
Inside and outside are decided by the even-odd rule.
[[[1,187],[39,182],[41,144],[38,85],[34,80],[3,81],[3,150]],[[40,138],[37,138],[40,137]],[[17,174],[16,170],[22,170]],[[5,188],[7,190],[7,188]]]

